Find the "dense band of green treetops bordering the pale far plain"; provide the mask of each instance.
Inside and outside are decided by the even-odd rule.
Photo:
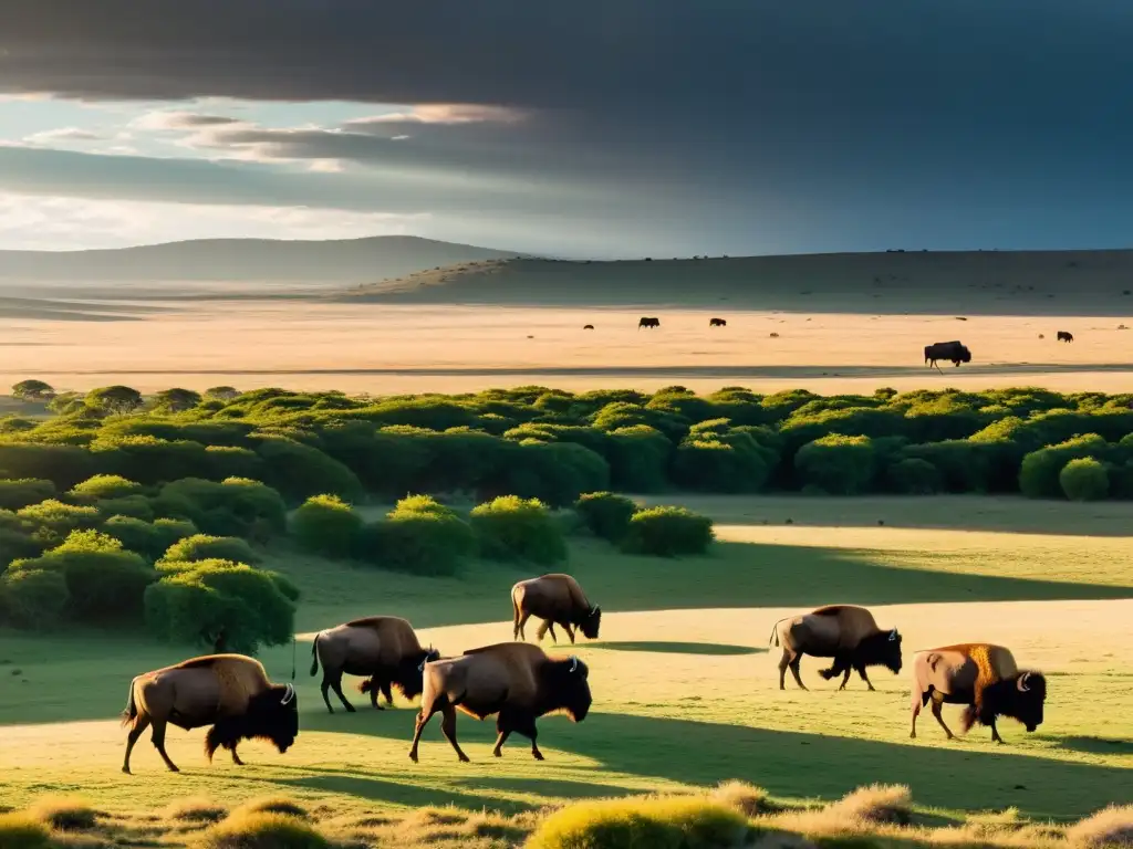
[[[1133,498],[1130,394],[701,396],[674,386],[368,398],[218,387],[145,400],[129,387],[33,389],[58,412],[0,421],[0,472],[58,488],[93,474],[143,484],[240,477],[291,505],[419,492],[565,506],[606,489]]]

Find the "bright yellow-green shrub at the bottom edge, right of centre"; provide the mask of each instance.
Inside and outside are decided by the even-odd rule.
[[[528,849],[743,846],[748,821],[705,798],[654,797],[582,801],[551,814]]]

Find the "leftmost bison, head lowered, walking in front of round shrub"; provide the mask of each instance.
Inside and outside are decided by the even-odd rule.
[[[122,711],[122,726],[130,729],[122,772],[129,773],[134,744],[151,724],[154,748],[171,771],[179,772],[165,753],[170,722],[186,730],[212,726],[205,736],[208,760],[218,748],[227,748],[241,766],[236,754],[240,740],[265,739],[283,754],[299,735],[295,687],[272,684],[263,664],[242,654],[193,658],[131,680]]]

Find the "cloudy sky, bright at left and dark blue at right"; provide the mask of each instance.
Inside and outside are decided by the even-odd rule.
[[[0,0],[0,249],[1131,247],[1130,44],[1116,0]]]

